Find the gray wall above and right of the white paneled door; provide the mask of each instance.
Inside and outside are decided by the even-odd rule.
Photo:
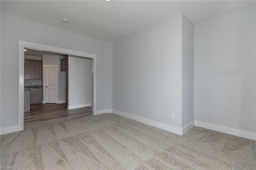
[[[62,59],[63,57],[64,56],[60,56],[58,54],[43,55],[42,57],[43,65],[58,65],[58,103],[65,102],[66,93],[66,72],[60,71],[60,59]]]

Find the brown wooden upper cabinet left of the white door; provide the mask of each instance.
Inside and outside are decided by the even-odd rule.
[[[25,59],[24,79],[42,80],[42,61]]]

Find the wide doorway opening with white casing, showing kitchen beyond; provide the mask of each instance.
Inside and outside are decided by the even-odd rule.
[[[19,41],[18,130],[94,115],[95,73],[96,55]]]

